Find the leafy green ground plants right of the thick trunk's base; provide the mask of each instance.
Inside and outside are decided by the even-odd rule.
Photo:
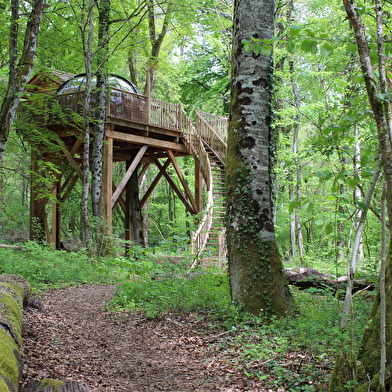
[[[265,388],[284,387],[290,392],[327,390],[336,353],[355,349],[371,302],[356,301],[354,347],[342,347],[345,336],[338,327],[341,303],[327,292],[322,294],[294,292],[300,311],[292,319],[266,322],[252,317],[235,327],[231,350],[250,382],[263,380]]]

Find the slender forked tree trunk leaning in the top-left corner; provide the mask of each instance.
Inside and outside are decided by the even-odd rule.
[[[32,11],[26,26],[23,51],[17,64],[19,1],[12,0],[11,2],[10,72],[7,92],[0,110],[0,164],[3,161],[5,145],[20,98],[33,69],[44,5],[45,0],[35,0],[32,5]]]

